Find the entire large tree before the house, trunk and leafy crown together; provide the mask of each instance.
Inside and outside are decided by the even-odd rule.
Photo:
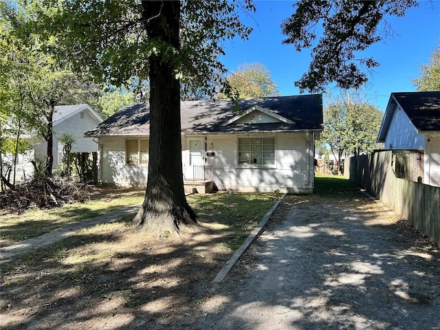
[[[27,28],[55,41],[47,50],[59,63],[109,86],[149,82],[148,184],[135,221],[174,232],[195,219],[181,170],[181,83],[212,94],[226,72],[219,61],[224,41],[251,32],[239,11],[254,10],[252,1],[27,2],[37,12]]]

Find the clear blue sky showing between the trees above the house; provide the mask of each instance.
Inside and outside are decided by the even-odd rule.
[[[259,62],[269,69],[272,80],[278,84],[281,95],[298,95],[294,86],[307,71],[310,50],[296,52],[293,45],[283,45],[281,22],[289,17],[294,1],[254,1],[256,12],[243,17],[254,31],[248,41],[236,39],[225,43],[223,63],[235,71],[243,63]],[[415,91],[411,79],[419,76],[419,67],[428,63],[430,54],[440,44],[440,1],[419,1],[419,7],[410,8],[405,17],[387,17],[395,36],[372,45],[365,56],[373,56],[380,63],[369,75],[362,90],[363,100],[384,111],[393,91]],[[340,93],[329,89],[331,94]],[[325,96],[324,102],[329,100]]]

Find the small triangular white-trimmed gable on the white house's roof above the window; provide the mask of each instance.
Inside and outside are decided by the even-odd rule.
[[[275,122],[284,122],[285,124],[293,124],[292,120],[284,118],[282,115],[273,113],[269,109],[254,105],[254,107],[236,115],[234,118],[221,124],[228,126],[232,124],[269,124]]]

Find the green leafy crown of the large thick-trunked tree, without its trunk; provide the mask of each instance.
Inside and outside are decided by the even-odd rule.
[[[160,54],[164,61],[173,62],[182,82],[210,89],[208,80],[221,80],[226,72],[219,61],[223,41],[235,36],[247,39],[252,31],[239,21],[240,10],[254,10],[251,0],[179,1],[180,47],[176,50],[145,29],[155,18],[144,12],[144,2],[43,0],[39,3],[46,9],[40,11],[35,26],[46,39],[56,38],[52,51],[75,71],[87,69],[95,80],[115,87],[133,87],[147,79],[149,56]],[[153,2],[163,7],[163,1]]]

